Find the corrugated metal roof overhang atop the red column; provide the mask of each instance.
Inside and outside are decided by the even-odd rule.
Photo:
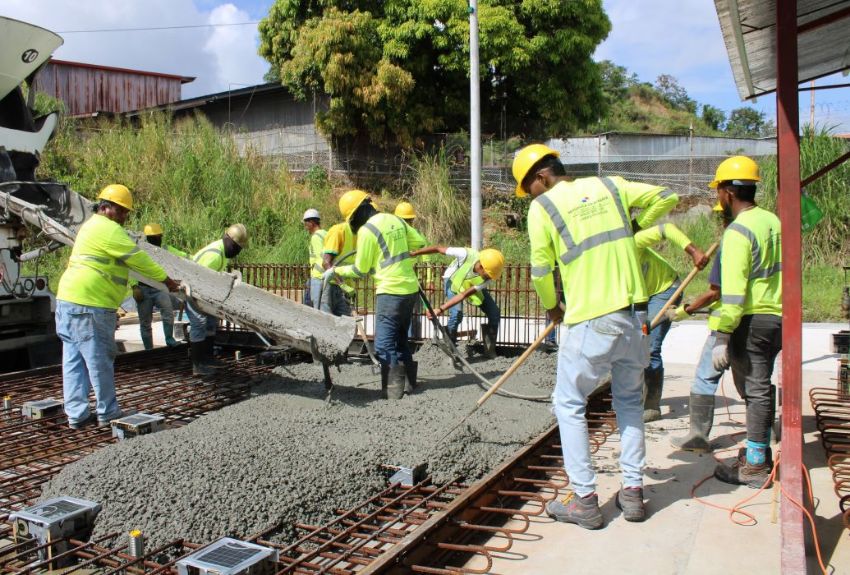
[[[715,0],[738,93],[776,90],[776,0]],[[798,0],[799,81],[850,69],[850,0]]]

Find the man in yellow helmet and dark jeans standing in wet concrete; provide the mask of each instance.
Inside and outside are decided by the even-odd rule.
[[[419,280],[413,270],[412,250],[425,239],[403,219],[381,213],[369,194],[351,190],[339,200],[339,211],[357,234],[354,263],[329,269],[328,276],[375,276],[375,355],[381,362],[381,389],[389,399],[416,387],[417,364],[407,345],[413,306],[419,297]]]

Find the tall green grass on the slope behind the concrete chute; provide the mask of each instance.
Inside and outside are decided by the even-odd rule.
[[[285,166],[251,151],[240,154],[232,139],[201,117],[175,122],[152,115],[140,126],[115,120],[65,123],[48,145],[38,175],[66,182],[89,199],[108,183],[127,185],[136,206],[127,228],[158,222],[165,241],[188,252],[243,222],[250,241],[242,261],[305,262],[301,214],[315,207],[336,215],[326,175],[297,182]],[[66,252],[42,262],[54,288]]]

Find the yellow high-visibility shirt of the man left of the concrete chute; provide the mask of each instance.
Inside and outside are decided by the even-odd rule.
[[[157,281],[167,277],[124,228],[95,214],[77,232],[56,297],[79,305],[118,309],[127,293],[131,269]]]

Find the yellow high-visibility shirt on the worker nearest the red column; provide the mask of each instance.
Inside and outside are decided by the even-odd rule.
[[[753,207],[729,224],[720,244],[720,284],[719,331],[735,331],[745,315],[782,315],[779,218]]]

